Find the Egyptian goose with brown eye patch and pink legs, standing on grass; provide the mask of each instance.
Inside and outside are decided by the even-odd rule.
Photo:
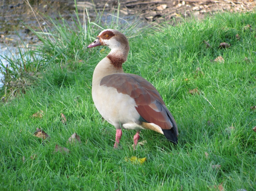
[[[94,69],[92,97],[102,117],[116,128],[114,148],[118,147],[122,128],[137,130],[134,149],[143,129],[164,134],[177,144],[177,124],[156,88],[141,76],[123,72],[122,64],[130,49],[126,36],[106,29],[87,48],[100,45],[111,51]]]

